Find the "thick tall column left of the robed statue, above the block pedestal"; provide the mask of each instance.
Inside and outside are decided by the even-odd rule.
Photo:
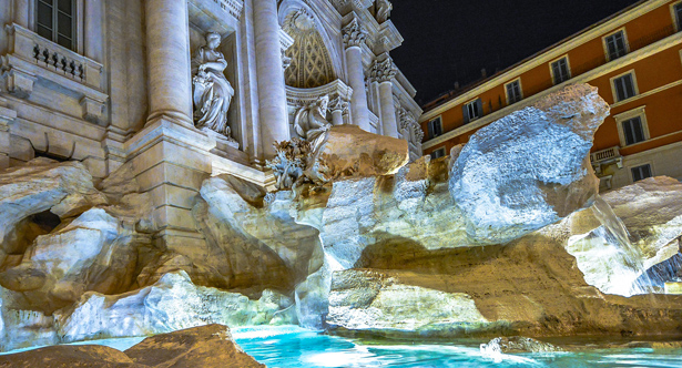
[[[187,3],[145,0],[146,54],[150,79],[147,123],[165,117],[193,126]]]

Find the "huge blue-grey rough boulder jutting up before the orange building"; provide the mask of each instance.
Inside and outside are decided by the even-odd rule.
[[[588,154],[608,114],[596,88],[576,84],[474,134],[450,171],[469,236],[507,243],[591,205]]]

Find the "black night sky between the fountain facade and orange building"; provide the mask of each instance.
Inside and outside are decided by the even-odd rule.
[[[417,102],[503,70],[638,0],[393,0],[390,54]]]

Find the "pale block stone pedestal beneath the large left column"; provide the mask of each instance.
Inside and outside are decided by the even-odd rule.
[[[215,140],[159,119],[124,144],[141,191],[153,202],[155,238],[169,248],[203,244],[191,211],[202,182],[211,175]]]

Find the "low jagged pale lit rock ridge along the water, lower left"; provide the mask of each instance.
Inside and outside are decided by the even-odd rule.
[[[181,270],[164,275],[153,286],[122,295],[86,293],[79,303],[54,315],[61,341],[68,343],[165,334],[207,324],[291,324],[295,321],[291,306],[291,299],[271,290],[251,300],[242,294],[195,286]]]

